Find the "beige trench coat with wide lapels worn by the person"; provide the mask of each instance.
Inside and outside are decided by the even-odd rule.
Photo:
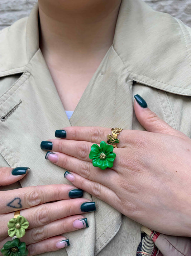
[[[68,183],[45,160],[42,140],[66,126],[144,130],[134,95],[173,128],[191,136],[191,28],[141,0],[123,0],[113,45],[87,85],[70,121],[39,49],[38,4],[29,17],[0,31],[0,166],[28,166],[22,187]],[[16,188],[16,185],[6,189]],[[135,256],[141,225],[85,193],[97,211],[90,227],[66,234],[71,246],[43,255]],[[157,220],[156,220],[157,221]],[[164,256],[191,255],[191,239],[159,235]]]

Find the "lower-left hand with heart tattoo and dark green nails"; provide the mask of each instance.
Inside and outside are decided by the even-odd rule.
[[[22,179],[28,169],[22,168],[25,168],[24,171],[19,172],[20,167],[15,169],[1,167],[0,185],[13,184]],[[21,174],[24,172],[26,173]],[[83,190],[67,184],[1,191],[0,249],[3,248],[4,243],[12,240],[8,236],[7,224],[10,219],[14,218],[14,212],[18,210],[20,210],[20,215],[29,222],[26,234],[20,238],[20,241],[26,243],[29,256],[66,247],[67,242],[63,240],[67,238],[60,234],[88,227],[87,219],[81,214],[96,210],[94,202],[78,198],[82,196]]]

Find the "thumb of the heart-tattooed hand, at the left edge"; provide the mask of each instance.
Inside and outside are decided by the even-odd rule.
[[[22,179],[28,172],[29,167],[1,167],[0,168],[0,186],[6,186]]]

